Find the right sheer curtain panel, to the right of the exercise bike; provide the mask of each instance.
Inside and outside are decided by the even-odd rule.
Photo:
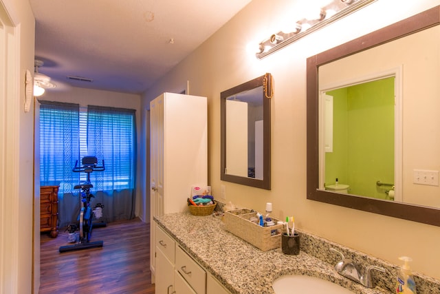
[[[87,149],[105,171],[91,174],[94,203],[104,204],[106,222],[134,218],[136,179],[135,110],[89,105]]]

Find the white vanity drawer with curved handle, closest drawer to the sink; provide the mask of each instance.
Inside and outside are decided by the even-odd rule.
[[[176,248],[175,266],[197,294],[206,293],[206,272],[180,246]]]

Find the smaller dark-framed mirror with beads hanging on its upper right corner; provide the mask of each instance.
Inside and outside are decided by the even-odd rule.
[[[270,99],[265,74],[221,92],[221,180],[270,190]]]

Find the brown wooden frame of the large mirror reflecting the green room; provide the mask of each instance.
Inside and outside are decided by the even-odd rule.
[[[318,69],[332,61],[431,28],[440,23],[440,6],[361,36],[307,59],[307,199],[440,227],[440,209],[333,193],[318,189]]]

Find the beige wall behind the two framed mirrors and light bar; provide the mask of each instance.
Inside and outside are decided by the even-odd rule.
[[[276,17],[289,11],[298,14],[300,3],[304,2],[252,1],[151,87],[142,107],[190,81],[190,94],[208,96],[208,179],[214,196],[219,197],[225,185],[226,199],[241,207],[264,211],[265,203],[272,202],[275,216],[293,215],[301,229],[395,264],[399,256],[409,255],[415,271],[440,279],[440,227],[306,199],[305,75],[308,56],[437,6],[440,0],[376,1],[261,61],[246,52],[250,41],[258,43],[277,32]],[[220,92],[265,72],[273,74],[275,85],[271,191],[220,180]]]

